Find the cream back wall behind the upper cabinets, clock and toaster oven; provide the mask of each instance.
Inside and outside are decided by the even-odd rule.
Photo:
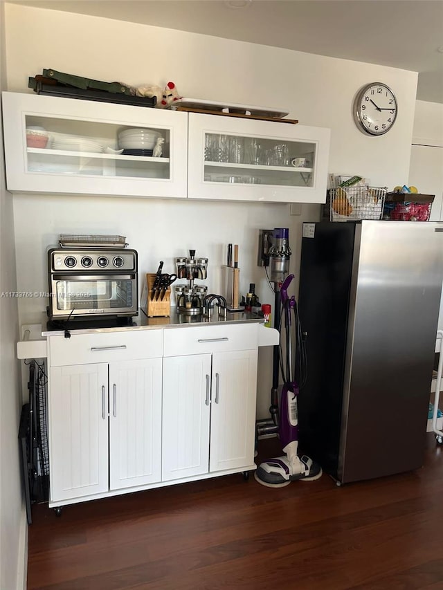
[[[182,95],[264,105],[289,111],[303,125],[332,129],[329,172],[361,174],[373,185],[393,187],[407,178],[417,74],[127,22],[6,5],[8,90],[30,92],[28,77],[42,68],[127,84],[164,85],[172,80]],[[392,130],[365,136],[352,118],[354,95],[380,81],[397,94],[399,115]],[[117,233],[140,255],[142,273],[159,259],[172,270],[174,257],[195,248],[210,259],[208,286],[217,291],[223,246],[238,243],[241,290],[257,284],[262,302],[273,302],[263,270],[255,266],[257,229],[289,227],[297,273],[300,224],[316,221],[320,208],[289,217],[288,205],[195,203],[165,200],[66,196],[15,196],[19,291],[44,291],[44,250],[60,232]],[[168,265],[168,266],[166,266]],[[296,287],[296,284],[294,284]],[[21,322],[35,321],[45,302],[19,301]],[[266,378],[259,378],[258,414],[267,416],[271,356],[260,353]],[[266,369],[266,371],[265,371]]]

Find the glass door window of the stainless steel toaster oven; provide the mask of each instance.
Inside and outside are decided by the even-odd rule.
[[[53,277],[56,313],[129,313],[137,310],[134,275]]]

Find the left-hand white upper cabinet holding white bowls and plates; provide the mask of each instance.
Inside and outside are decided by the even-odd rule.
[[[2,101],[8,190],[186,198],[186,113],[10,92]]]

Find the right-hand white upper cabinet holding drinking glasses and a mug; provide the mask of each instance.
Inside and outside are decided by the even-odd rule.
[[[329,129],[189,115],[188,197],[324,203]]]

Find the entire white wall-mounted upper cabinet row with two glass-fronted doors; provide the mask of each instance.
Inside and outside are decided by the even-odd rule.
[[[10,191],[325,203],[329,129],[25,93],[2,100]]]

